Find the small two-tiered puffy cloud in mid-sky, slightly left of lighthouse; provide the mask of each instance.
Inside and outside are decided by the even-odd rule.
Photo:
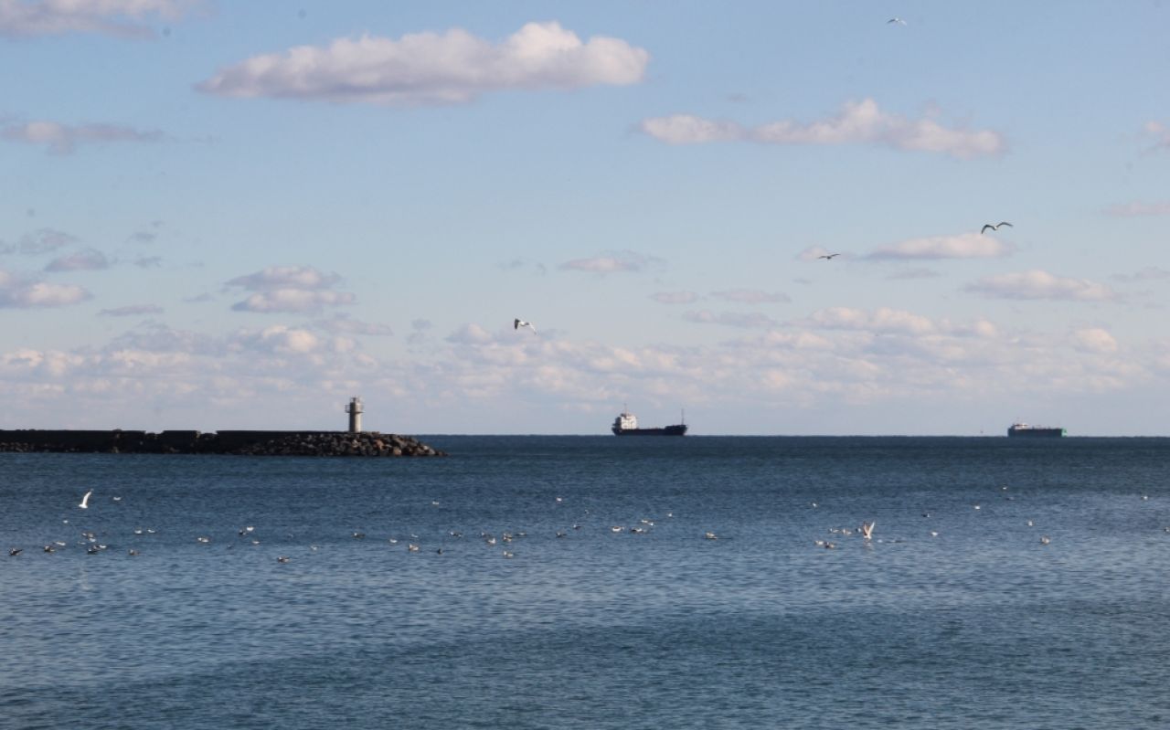
[[[277,266],[238,276],[225,287],[253,291],[232,305],[235,311],[314,312],[357,301],[347,291],[332,290],[339,281],[337,274],[325,274],[312,267]]]

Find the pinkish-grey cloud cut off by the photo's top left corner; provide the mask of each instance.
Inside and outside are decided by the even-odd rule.
[[[177,20],[199,5],[197,0],[0,0],[0,35],[151,36],[150,20]]]

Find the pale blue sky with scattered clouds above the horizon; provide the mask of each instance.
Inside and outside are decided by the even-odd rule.
[[[1166,37],[0,0],[0,427],[1165,434]]]

